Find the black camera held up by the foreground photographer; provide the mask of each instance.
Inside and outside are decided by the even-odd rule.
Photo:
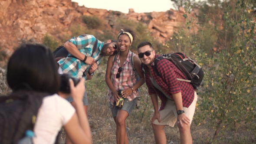
[[[73,80],[75,86],[80,81],[80,79],[77,79],[77,78],[73,77],[69,73],[65,73],[65,74],[60,75],[60,88],[59,88],[60,92],[63,92],[63,93],[66,93],[66,94],[70,93],[69,79]]]

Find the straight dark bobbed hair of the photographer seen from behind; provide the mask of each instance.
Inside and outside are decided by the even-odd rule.
[[[7,82],[13,91],[25,88],[37,92],[57,93],[59,75],[53,53],[43,45],[20,46],[8,62]]]

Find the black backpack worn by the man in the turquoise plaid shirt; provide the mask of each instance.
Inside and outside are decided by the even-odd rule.
[[[92,55],[97,49],[98,39],[96,39],[93,48],[92,48]],[[65,49],[64,46],[59,46],[57,49],[53,51],[53,55],[55,57],[56,61],[59,61],[60,59],[66,58],[68,56],[69,52]],[[75,56],[68,56],[77,59]]]

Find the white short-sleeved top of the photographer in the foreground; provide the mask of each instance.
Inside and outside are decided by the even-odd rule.
[[[75,113],[75,108],[59,95],[43,98],[34,127],[33,144],[54,144],[61,127],[65,125]]]

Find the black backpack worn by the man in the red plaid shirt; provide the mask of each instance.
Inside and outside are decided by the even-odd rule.
[[[187,79],[177,79],[179,81],[190,82],[193,85],[194,89],[197,89],[200,86],[203,80],[203,70],[200,65],[189,56],[186,56],[184,53],[176,52],[173,54],[163,54],[154,59],[153,68],[154,72],[160,76],[157,65],[161,59],[168,59],[186,76]],[[143,73],[145,74],[144,67],[142,67]]]

